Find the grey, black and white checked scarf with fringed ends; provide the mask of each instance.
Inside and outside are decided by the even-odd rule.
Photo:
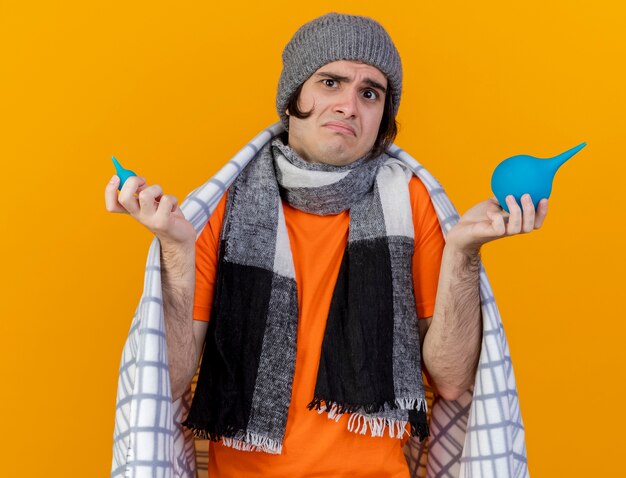
[[[395,158],[342,167],[266,144],[228,194],[206,345],[190,413],[196,435],[281,453],[291,400],[297,284],[281,200],[350,210],[310,410],[372,436],[428,435],[413,293],[411,171]],[[330,279],[330,278],[329,278]]]

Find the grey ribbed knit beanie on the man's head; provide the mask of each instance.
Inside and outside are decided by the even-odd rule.
[[[319,68],[339,60],[361,61],[385,74],[395,117],[402,93],[402,64],[391,37],[371,18],[327,13],[302,25],[283,50],[276,111],[285,128],[289,128],[285,109],[293,92]]]

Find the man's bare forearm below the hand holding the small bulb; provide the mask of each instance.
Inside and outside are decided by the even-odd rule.
[[[196,370],[198,352],[193,337],[195,245],[161,244],[161,281],[167,357],[172,398],[185,393]]]

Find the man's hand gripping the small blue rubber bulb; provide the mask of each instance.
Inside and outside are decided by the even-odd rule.
[[[147,227],[165,247],[192,247],[196,240],[193,225],[178,207],[178,200],[163,194],[158,184],[148,186],[146,179],[132,176],[117,193],[120,178],[114,175],[104,190],[104,201],[109,212],[130,214]]]

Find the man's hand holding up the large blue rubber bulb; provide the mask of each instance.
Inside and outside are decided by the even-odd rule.
[[[512,195],[506,197],[509,213],[500,207],[495,197],[478,203],[450,230],[446,245],[467,253],[478,252],[487,242],[539,229],[548,214],[548,200],[539,201],[535,210],[529,194],[521,199],[522,208]]]

